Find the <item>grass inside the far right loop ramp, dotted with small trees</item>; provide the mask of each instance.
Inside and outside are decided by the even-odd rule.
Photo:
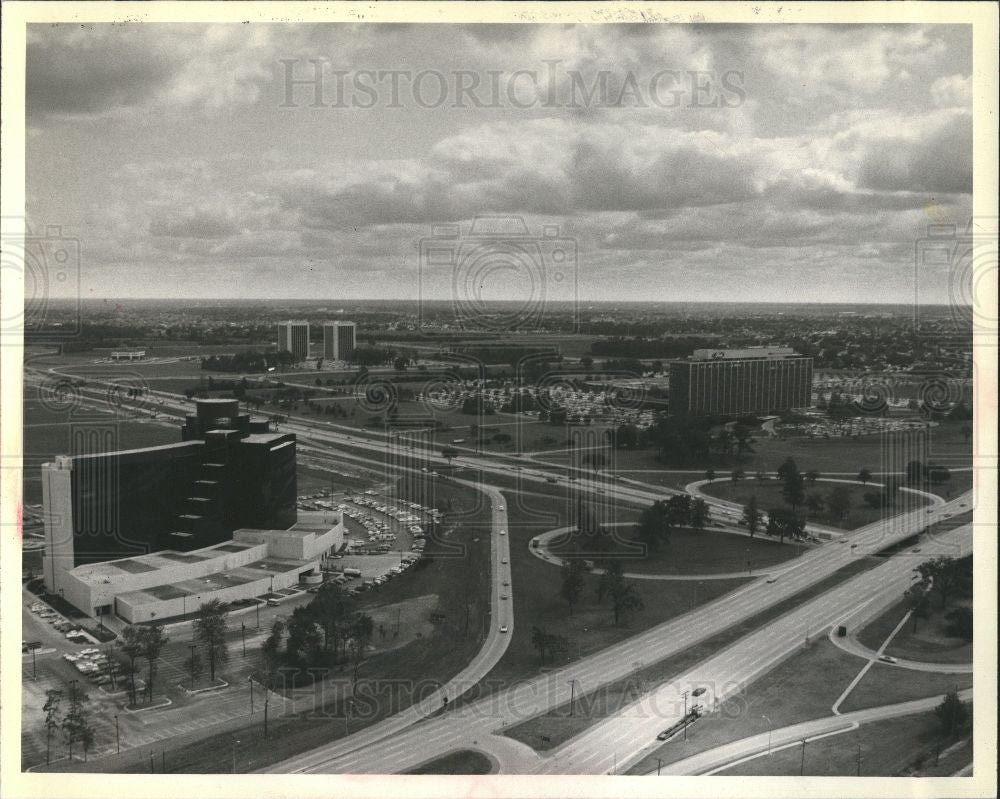
[[[881,508],[870,508],[864,503],[865,493],[879,490],[874,485],[863,486],[860,483],[833,483],[819,480],[812,486],[806,484],[806,495],[819,494],[825,498],[834,488],[838,487],[846,488],[851,498],[850,510],[843,519],[835,519],[827,508],[819,513],[811,514],[805,507],[800,507],[799,513],[805,514],[811,522],[840,527],[845,530],[863,527],[882,518]],[[716,480],[713,483],[703,485],[701,491],[717,499],[726,499],[740,505],[746,505],[750,501],[750,497],[756,496],[757,507],[764,511],[768,508],[790,508],[781,496],[781,483],[777,480],[765,480],[762,483],[757,482],[756,479],[741,480],[738,483],[734,483],[732,480]],[[891,508],[890,513],[895,515],[927,504],[928,501],[924,497],[900,492],[899,504],[897,507]]]

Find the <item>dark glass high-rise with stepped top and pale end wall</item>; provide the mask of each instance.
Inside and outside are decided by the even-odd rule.
[[[197,400],[182,441],[71,457],[42,466],[46,581],[72,569],[162,549],[192,550],[239,528],[296,521],[295,435]]]

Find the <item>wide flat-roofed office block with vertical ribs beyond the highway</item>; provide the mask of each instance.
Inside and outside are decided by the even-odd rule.
[[[812,404],[812,358],[788,347],[695,350],[670,362],[670,413],[740,416]]]

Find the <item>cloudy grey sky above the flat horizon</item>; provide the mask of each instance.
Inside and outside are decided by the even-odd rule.
[[[908,302],[970,213],[970,57],[957,25],[32,26],[29,223],[84,297],[519,298],[466,264],[502,216],[553,298]]]

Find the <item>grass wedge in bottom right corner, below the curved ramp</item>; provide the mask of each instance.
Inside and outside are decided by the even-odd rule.
[[[948,776],[972,760],[972,740],[951,748],[933,712],[876,721],[860,729],[749,760],[720,776],[896,777]],[[860,773],[858,746],[861,747]],[[940,758],[938,748],[946,751]],[[935,761],[937,761],[935,763]]]

